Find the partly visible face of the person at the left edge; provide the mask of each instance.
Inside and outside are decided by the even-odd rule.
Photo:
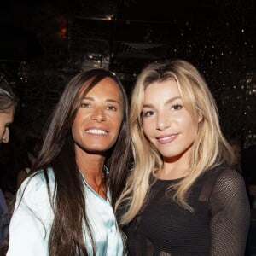
[[[0,112],[0,143],[9,143],[9,125],[14,121],[15,106]]]

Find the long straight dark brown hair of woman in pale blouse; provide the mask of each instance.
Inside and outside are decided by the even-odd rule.
[[[90,242],[96,248],[93,232],[86,215],[84,185],[75,161],[75,151],[71,127],[78,111],[80,101],[91,88],[104,78],[111,78],[117,84],[123,96],[124,118],[117,142],[111,148],[105,164],[109,169],[109,189],[114,205],[125,186],[130,158],[130,132],[128,128],[128,101],[125,90],[113,73],[104,69],[92,69],[77,74],[66,86],[51,115],[44,143],[38,154],[32,175],[43,170],[48,186],[49,201],[55,217],[49,235],[49,255],[88,255],[84,245],[83,226],[88,231]],[[55,190],[52,196],[49,190],[47,168],[51,166],[55,173]],[[55,201],[54,201],[55,198]]]

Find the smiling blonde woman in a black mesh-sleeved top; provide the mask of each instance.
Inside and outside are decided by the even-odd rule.
[[[134,166],[116,212],[129,255],[243,255],[249,204],[201,74],[145,67],[131,96]]]

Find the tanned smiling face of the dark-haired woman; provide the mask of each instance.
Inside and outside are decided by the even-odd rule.
[[[119,136],[122,119],[123,98],[119,85],[113,79],[102,79],[84,96],[76,113],[72,126],[76,152],[108,151]]]

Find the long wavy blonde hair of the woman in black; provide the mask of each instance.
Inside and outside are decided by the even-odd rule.
[[[120,206],[128,208],[120,218],[120,224],[127,224],[136,216],[148,193],[150,174],[163,166],[159,152],[143,134],[141,113],[146,87],[154,82],[169,79],[176,80],[184,107],[191,116],[196,117],[199,113],[203,116],[192,146],[191,172],[172,187],[176,189],[174,200],[192,212],[193,209],[186,202],[186,196],[195,180],[210,168],[224,161],[230,163],[232,160],[230,146],[218,122],[215,100],[197,69],[189,62],[182,60],[149,64],[138,76],[131,96],[130,129],[134,165],[125,189],[116,204],[116,209]]]

